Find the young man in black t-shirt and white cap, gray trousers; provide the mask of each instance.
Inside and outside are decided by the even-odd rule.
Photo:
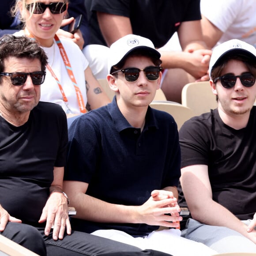
[[[256,252],[256,49],[226,41],[209,70],[218,107],[179,132],[181,185],[193,218],[182,236],[218,252]]]

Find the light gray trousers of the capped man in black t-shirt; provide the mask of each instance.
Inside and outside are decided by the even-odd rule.
[[[243,222],[247,225],[249,223],[249,221]],[[188,219],[186,228],[182,230],[181,236],[196,242],[201,242],[218,253],[256,253],[256,244],[237,231],[221,226],[205,225],[192,218]]]

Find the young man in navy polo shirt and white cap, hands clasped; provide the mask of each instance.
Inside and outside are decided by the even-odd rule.
[[[77,215],[72,228],[174,256],[213,255],[180,237],[177,124],[151,109],[161,82],[160,53],[147,38],[127,35],[110,47],[113,102],[69,129],[64,187]],[[154,232],[158,226],[168,230]]]

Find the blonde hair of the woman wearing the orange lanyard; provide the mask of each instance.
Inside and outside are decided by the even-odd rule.
[[[68,3],[69,0],[64,0],[63,3]],[[30,17],[33,15],[34,9],[35,9],[35,3],[37,3],[37,0],[33,0],[30,4]],[[60,1],[59,1],[60,2]],[[11,8],[11,15],[14,17],[18,17],[25,25],[26,23],[26,0],[16,0],[15,6]]]

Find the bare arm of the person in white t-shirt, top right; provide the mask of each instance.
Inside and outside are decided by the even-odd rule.
[[[219,39],[222,37],[223,32],[218,29],[213,23],[211,23],[205,16],[202,15],[201,19],[203,40],[207,44],[207,47],[212,49]]]

